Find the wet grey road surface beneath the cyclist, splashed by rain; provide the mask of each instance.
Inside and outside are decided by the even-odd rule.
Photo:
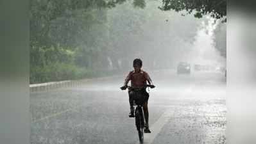
[[[150,74],[150,71],[149,71]],[[123,76],[124,77],[124,76]],[[30,95],[31,143],[136,144],[123,77]],[[144,143],[226,143],[226,82],[218,72],[151,74],[149,127]]]

